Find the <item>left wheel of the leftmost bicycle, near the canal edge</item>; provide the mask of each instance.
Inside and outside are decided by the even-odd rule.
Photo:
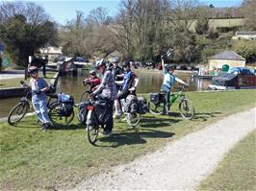
[[[18,103],[8,115],[8,123],[13,126],[15,123],[19,122],[25,114],[28,112],[29,103],[20,102]]]

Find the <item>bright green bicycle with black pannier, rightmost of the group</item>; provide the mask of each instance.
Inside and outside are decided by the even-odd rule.
[[[179,111],[183,118],[191,120],[194,115],[194,107],[192,106],[192,101],[186,98],[185,93],[183,92],[184,86],[179,86],[178,91],[169,95],[169,107],[173,105],[178,98],[179,102]],[[165,93],[150,93],[150,101],[148,102],[149,111],[152,114],[163,114],[165,111],[166,99]],[[166,105],[166,112],[168,113],[169,107]]]

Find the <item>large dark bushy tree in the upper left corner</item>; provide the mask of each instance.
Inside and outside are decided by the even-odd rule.
[[[13,63],[26,66],[29,56],[38,48],[56,45],[56,25],[41,7],[34,3],[3,2],[0,11],[0,39]]]

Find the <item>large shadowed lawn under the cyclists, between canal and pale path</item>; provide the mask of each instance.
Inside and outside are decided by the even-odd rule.
[[[256,104],[256,90],[186,95],[196,111],[192,121],[181,118],[174,105],[170,116],[145,114],[135,130],[115,122],[114,135],[101,137],[97,147],[90,145],[77,119],[66,130],[46,132],[39,131],[36,117],[17,127],[0,123],[0,190],[68,189]]]

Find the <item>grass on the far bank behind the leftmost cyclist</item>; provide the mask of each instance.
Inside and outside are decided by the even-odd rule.
[[[45,81],[49,84],[51,80],[53,80],[54,75],[56,74],[56,72],[51,72],[51,71],[47,71],[46,72],[46,78]],[[39,73],[40,77],[43,77],[42,73]],[[20,81],[24,81],[27,84],[29,84],[30,79],[27,79],[26,81],[24,80],[24,78],[14,78],[14,79],[7,79],[7,80],[2,80],[1,79],[1,84],[0,84],[0,88],[7,88],[7,87],[20,87],[19,82]]]

